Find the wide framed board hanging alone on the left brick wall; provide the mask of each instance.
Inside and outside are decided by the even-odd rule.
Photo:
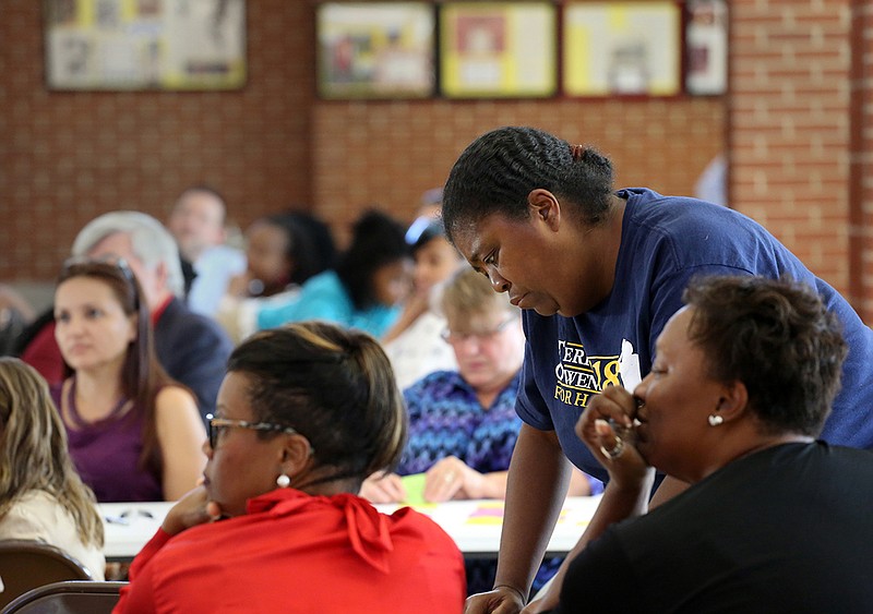
[[[236,89],[246,0],[44,0],[50,89]]]

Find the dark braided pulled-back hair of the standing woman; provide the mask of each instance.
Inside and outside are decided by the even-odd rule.
[[[538,188],[575,205],[578,219],[598,225],[609,209],[612,164],[590,147],[536,128],[504,127],[461,154],[443,190],[446,236],[493,213],[526,219],[527,195]]]

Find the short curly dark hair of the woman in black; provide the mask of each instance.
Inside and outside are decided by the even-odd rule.
[[[742,382],[768,433],[817,436],[848,349],[816,291],[789,278],[709,276],[692,279],[683,298],[709,375]]]

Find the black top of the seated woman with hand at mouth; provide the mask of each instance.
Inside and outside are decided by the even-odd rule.
[[[786,444],[741,458],[570,566],[557,614],[873,612],[873,453]]]

